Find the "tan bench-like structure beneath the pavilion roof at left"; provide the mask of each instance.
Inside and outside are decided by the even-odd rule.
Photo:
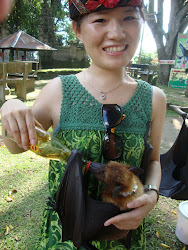
[[[36,63],[36,62],[35,62]],[[38,70],[32,73],[33,62],[15,61],[0,63],[0,100],[5,101],[6,88],[15,88],[17,97],[26,100],[26,94],[34,91],[34,83]]]

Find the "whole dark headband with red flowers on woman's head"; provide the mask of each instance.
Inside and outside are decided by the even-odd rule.
[[[76,21],[77,25],[83,16],[94,11],[112,9],[116,7],[132,6],[138,7],[142,18],[143,0],[69,0],[70,18]]]

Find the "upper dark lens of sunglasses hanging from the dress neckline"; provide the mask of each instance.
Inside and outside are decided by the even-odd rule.
[[[102,121],[106,128],[116,127],[122,120],[121,107],[114,104],[104,104],[102,107]]]

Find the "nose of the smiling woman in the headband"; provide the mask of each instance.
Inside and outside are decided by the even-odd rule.
[[[112,21],[109,23],[108,38],[115,40],[121,40],[125,38],[125,30],[121,22]]]

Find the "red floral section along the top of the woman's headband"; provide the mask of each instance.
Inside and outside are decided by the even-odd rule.
[[[111,9],[118,6],[133,6],[133,7],[139,7],[142,5],[142,0],[69,0],[69,9],[71,14],[71,3],[74,5],[74,7],[77,9],[77,11],[81,14],[87,14],[92,11],[95,11],[96,9],[102,7]],[[71,17],[72,18],[72,17]],[[72,18],[73,19],[73,18]]]

